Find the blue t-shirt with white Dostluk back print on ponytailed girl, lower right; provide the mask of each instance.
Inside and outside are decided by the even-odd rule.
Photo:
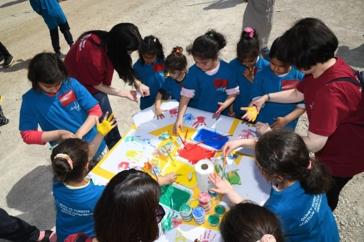
[[[282,219],[286,241],[339,241],[339,232],[326,194],[305,192],[299,181],[282,191],[271,189],[264,204]]]

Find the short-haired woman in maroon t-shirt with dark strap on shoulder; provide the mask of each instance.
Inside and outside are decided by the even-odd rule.
[[[362,87],[337,78],[359,82],[352,69],[339,57],[336,36],[320,20],[306,18],[288,30],[279,43],[282,59],[305,77],[296,89],[270,93],[251,102],[259,111],[265,102],[296,103],[305,100],[309,121],[303,137],[308,149],[331,171],[333,185],[326,193],[333,211],[344,185],[364,171],[364,98]],[[247,117],[249,119],[249,117]],[[257,124],[261,132],[270,130]]]

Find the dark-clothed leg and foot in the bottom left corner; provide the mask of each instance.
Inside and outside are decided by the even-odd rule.
[[[57,241],[57,235],[54,231],[40,231],[36,226],[9,215],[2,208],[0,208],[0,238],[19,242]]]

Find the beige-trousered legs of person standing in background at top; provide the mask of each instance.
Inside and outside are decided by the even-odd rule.
[[[275,0],[248,0],[243,17],[243,29],[250,27],[257,31],[260,53],[269,61],[268,41],[273,27]]]

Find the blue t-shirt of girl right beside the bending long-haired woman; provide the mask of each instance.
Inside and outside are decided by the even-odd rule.
[[[142,83],[149,87],[150,95],[140,98],[140,110],[151,107],[155,103],[155,97],[157,96],[158,89],[164,83],[164,62],[157,58],[152,65],[141,65],[140,59],[133,65],[134,70],[137,73],[138,79]]]

